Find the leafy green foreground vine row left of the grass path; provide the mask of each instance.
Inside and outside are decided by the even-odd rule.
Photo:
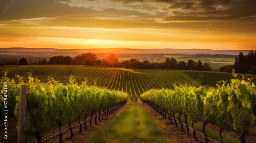
[[[40,131],[49,125],[59,126],[60,142],[62,142],[61,127],[63,123],[68,123],[69,127],[72,121],[72,115],[78,115],[80,133],[82,132],[82,123],[86,125],[86,117],[90,117],[90,126],[92,125],[92,117],[95,113],[95,124],[97,124],[97,113],[99,113],[99,121],[102,115],[114,112],[117,108],[124,105],[127,101],[127,93],[121,91],[113,91],[101,89],[95,86],[87,86],[85,82],[77,85],[76,81],[71,77],[66,85],[49,78],[47,83],[41,82],[39,79],[32,77],[30,74],[25,82],[24,78],[16,75],[18,84],[7,78],[7,72],[1,79],[1,105],[8,103],[9,114],[15,114],[17,118],[16,127],[24,128],[24,131],[33,134],[38,142],[42,142]],[[20,104],[20,89],[22,85],[28,85],[26,118],[22,124],[18,124],[19,120],[19,104]],[[7,94],[3,94],[3,93]],[[9,102],[6,102],[8,99]],[[7,104],[6,104],[7,105]],[[3,106],[0,106],[1,117],[3,117]],[[100,111],[103,110],[103,113]],[[106,111],[107,110],[107,111]],[[80,118],[84,117],[82,123]],[[2,118],[2,121],[3,118]],[[2,124],[2,129],[4,124]],[[73,136],[72,128],[71,138]]]

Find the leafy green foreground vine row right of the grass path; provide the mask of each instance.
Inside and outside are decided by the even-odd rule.
[[[237,77],[237,74],[233,74]],[[191,86],[175,86],[174,90],[150,90],[141,95],[143,102],[148,103],[152,108],[157,109],[162,115],[178,113],[178,121],[182,126],[180,116],[184,114],[187,133],[189,128],[187,117],[193,122],[203,121],[203,129],[207,122],[218,124],[220,136],[222,129],[233,130],[241,134],[241,142],[245,143],[245,136],[248,133],[250,125],[255,121],[255,85],[246,80],[232,79],[230,83],[219,82],[217,88],[204,90],[205,96],[202,96],[202,88]],[[170,112],[168,112],[170,111]],[[165,115],[166,116],[166,115]],[[174,118],[175,119],[175,118]],[[177,122],[175,120],[177,127]],[[208,138],[203,130],[206,142]],[[194,131],[195,137],[195,131]],[[197,138],[195,137],[197,140]],[[221,137],[223,142],[223,139]]]

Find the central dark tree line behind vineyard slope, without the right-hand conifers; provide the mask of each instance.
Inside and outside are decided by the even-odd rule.
[[[124,67],[132,69],[184,69],[184,70],[204,70],[212,71],[208,63],[202,63],[200,60],[198,62],[192,59],[188,62],[179,61],[175,58],[167,57],[165,62],[162,63],[151,63],[147,60],[140,62],[137,59],[131,58],[126,61],[119,62],[119,59],[115,54],[106,56],[103,59],[98,59],[94,53],[82,53],[73,58],[70,56],[53,56],[50,58],[49,62],[46,59],[39,60],[38,64],[51,64],[51,65],[90,65],[90,66],[106,66],[106,67]]]

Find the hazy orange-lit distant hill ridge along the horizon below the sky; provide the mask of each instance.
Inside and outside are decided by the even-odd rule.
[[[0,53],[117,53],[117,54],[229,54],[238,55],[241,51],[247,54],[250,50],[207,50],[207,49],[129,49],[129,48],[104,48],[104,49],[51,49],[51,48],[0,48]]]

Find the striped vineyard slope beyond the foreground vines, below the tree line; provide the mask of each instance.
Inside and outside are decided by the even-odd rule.
[[[44,82],[51,77],[65,83],[72,75],[78,83],[87,80],[88,85],[95,84],[99,87],[124,91],[133,99],[149,89],[173,89],[175,83],[200,86],[201,81],[205,81],[208,87],[215,87],[218,81],[230,81],[233,78],[231,73],[212,71],[148,70],[78,65],[1,66],[0,76],[4,75],[5,70],[9,70],[7,77],[10,78],[17,79],[16,74],[26,78],[28,76],[26,73],[30,72]],[[256,82],[255,75],[247,76],[254,78],[253,82]],[[239,74],[238,77],[241,78],[241,75]]]

